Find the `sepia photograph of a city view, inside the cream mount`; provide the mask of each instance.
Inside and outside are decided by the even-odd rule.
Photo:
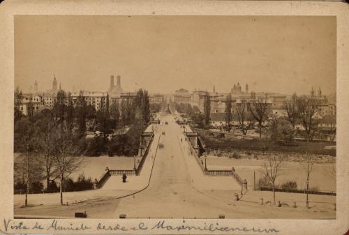
[[[15,15],[14,49],[14,218],[336,219],[336,17]]]

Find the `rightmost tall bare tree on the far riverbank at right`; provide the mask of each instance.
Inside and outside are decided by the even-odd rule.
[[[298,98],[297,110],[299,113],[299,121],[302,123],[306,132],[306,140],[309,141],[313,130],[313,115],[315,114],[314,100],[305,96]]]

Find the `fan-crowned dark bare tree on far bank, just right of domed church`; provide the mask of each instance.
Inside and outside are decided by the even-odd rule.
[[[253,119],[258,122],[260,137],[262,137],[262,123],[268,118],[267,98],[262,100],[250,100],[248,104]]]

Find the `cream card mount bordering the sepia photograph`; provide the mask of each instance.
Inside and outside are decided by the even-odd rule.
[[[184,218],[175,215],[170,218],[147,218],[133,216],[126,212],[114,213],[115,218],[61,218],[54,216],[16,215],[14,213],[13,174],[14,174],[14,125],[13,93],[15,90],[15,17],[25,15],[74,16],[74,15],[124,15],[128,16],[322,16],[336,18],[336,106],[338,119],[336,138],[336,217],[321,219],[280,219],[225,218],[223,213],[215,218]],[[84,1],[84,3],[60,1],[3,1],[0,4],[0,77],[1,79],[1,222],[0,230],[5,234],[346,234],[349,229],[349,161],[346,158],[346,130],[348,128],[347,107],[349,107],[349,8],[339,1]],[[62,25],[61,25],[62,26]],[[64,26],[63,26],[64,27]],[[31,30],[31,29],[26,29]],[[258,38],[256,38],[258,40]],[[289,52],[292,53],[292,52]],[[80,61],[79,61],[80,62]],[[197,82],[197,81],[195,81]],[[274,81],[276,82],[276,81]],[[194,88],[191,88],[194,89]],[[170,122],[170,121],[169,121]],[[165,124],[164,124],[165,125]],[[165,133],[164,133],[165,134]],[[167,135],[158,133],[159,141]],[[173,139],[181,142],[181,139]],[[156,148],[154,157],[156,158]],[[190,151],[190,150],[189,150]],[[193,150],[192,150],[193,151]],[[205,160],[206,162],[206,160]],[[133,162],[132,162],[133,164]],[[202,164],[203,165],[203,164]],[[150,167],[151,168],[151,167]],[[151,170],[149,168],[149,170]],[[131,176],[130,176],[131,177]],[[121,179],[120,179],[121,180]],[[144,181],[144,187],[149,185]],[[209,183],[209,182],[207,182]],[[142,190],[140,188],[140,190]],[[161,195],[161,190],[159,190]],[[30,197],[30,195],[29,195]],[[132,197],[132,196],[131,196]],[[138,195],[134,195],[135,198]],[[118,199],[116,199],[118,200]],[[233,199],[232,199],[233,200]],[[156,198],[154,198],[156,201]],[[185,202],[184,202],[185,203]],[[149,211],[156,202],[149,204]],[[207,210],[209,211],[209,210]],[[76,211],[82,213],[84,211]],[[321,213],[320,211],[318,213]],[[141,218],[142,217],[142,218]],[[172,218],[173,217],[173,218]],[[205,219],[204,219],[205,218]]]

